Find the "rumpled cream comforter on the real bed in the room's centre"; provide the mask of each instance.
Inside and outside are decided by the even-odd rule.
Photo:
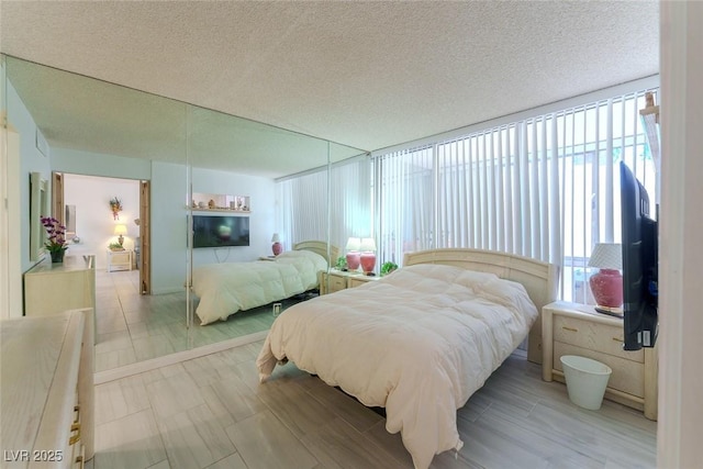
[[[276,319],[257,358],[265,381],[289,359],[368,406],[386,407],[415,468],[464,443],[456,411],[537,317],[522,284],[457,267],[404,267]]]

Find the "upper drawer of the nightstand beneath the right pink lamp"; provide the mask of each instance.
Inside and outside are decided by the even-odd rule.
[[[623,327],[557,314],[554,339],[643,364],[644,350],[623,350]]]

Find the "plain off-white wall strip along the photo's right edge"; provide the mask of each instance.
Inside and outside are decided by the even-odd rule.
[[[660,2],[661,222],[657,466],[701,467],[703,3]]]

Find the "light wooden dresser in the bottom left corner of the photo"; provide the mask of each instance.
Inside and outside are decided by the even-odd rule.
[[[93,310],[0,321],[2,468],[93,456]]]

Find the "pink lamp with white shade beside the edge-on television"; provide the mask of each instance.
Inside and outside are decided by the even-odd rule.
[[[589,267],[600,270],[589,279],[598,306],[617,310],[623,305],[622,247],[616,243],[596,244]]]

